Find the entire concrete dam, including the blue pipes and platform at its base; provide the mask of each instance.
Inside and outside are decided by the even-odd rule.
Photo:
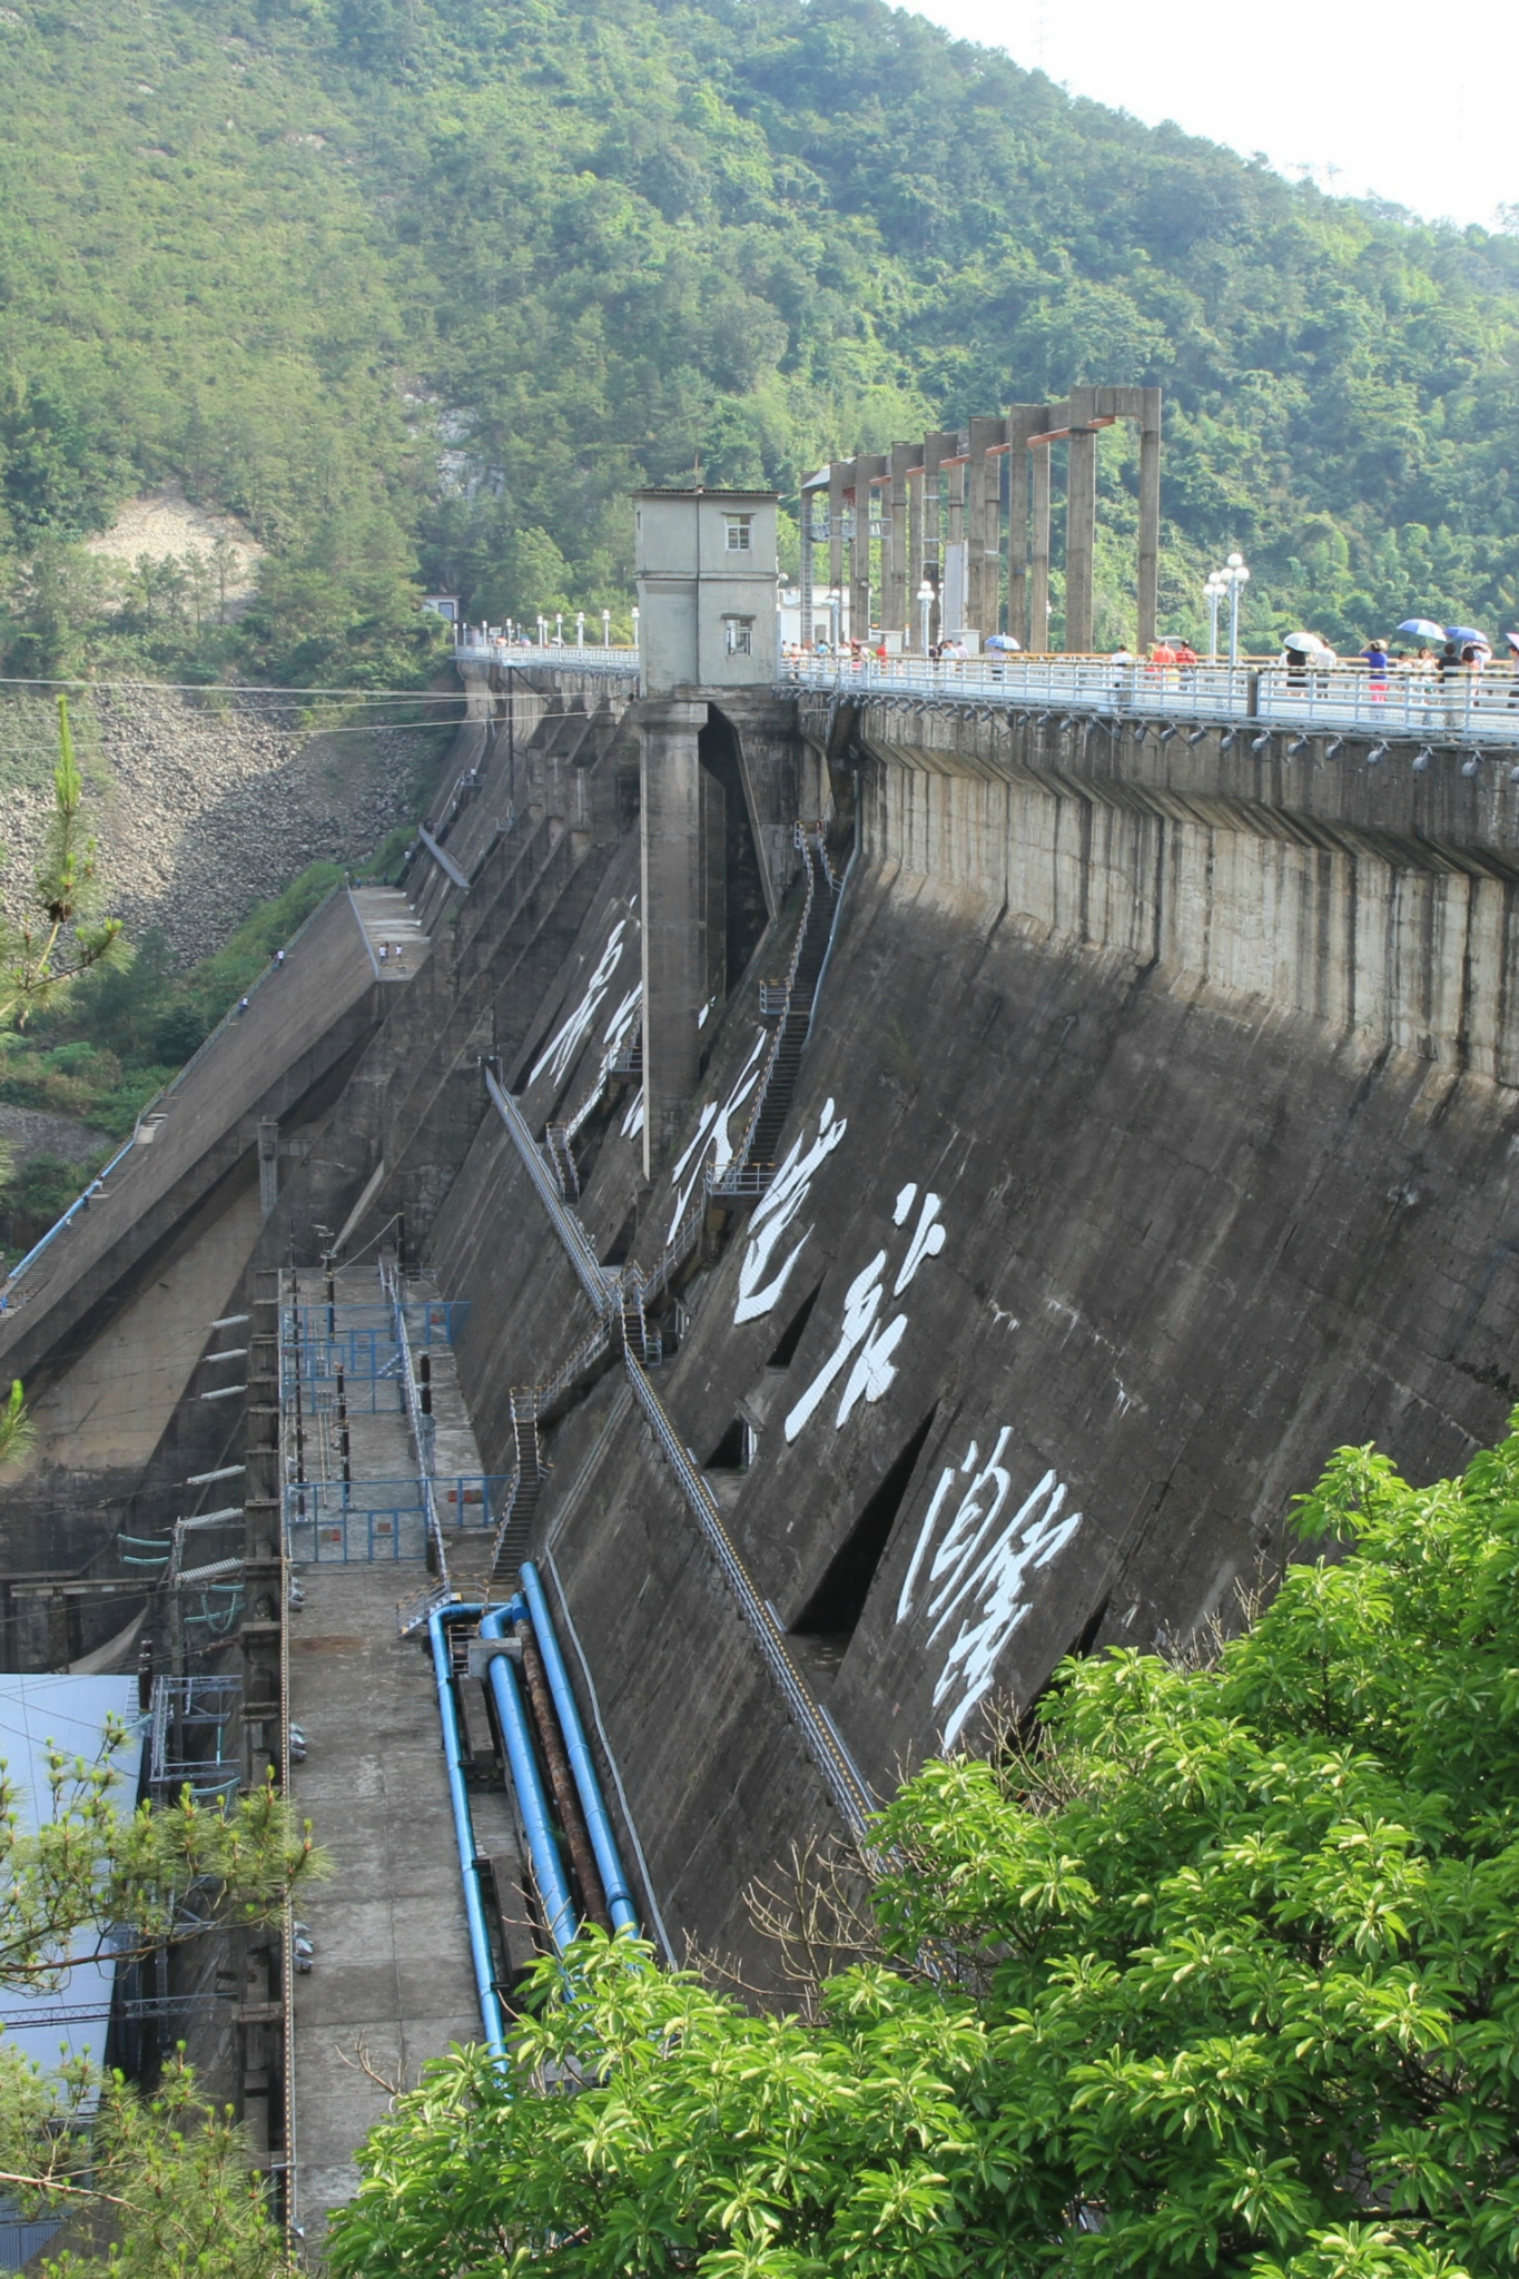
[[[1519,752],[749,654],[460,652],[403,884],[7,1285],[11,1666],[141,1652],[164,1787],[273,1764],[337,1860],[180,1967],[307,2238],[344,2049],[490,2031],[560,1908],[765,1985],[793,1844],[1519,1399]]]

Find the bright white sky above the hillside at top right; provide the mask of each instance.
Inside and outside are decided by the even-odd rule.
[[[1307,173],[1337,196],[1485,228],[1519,207],[1517,30],[1499,0],[1460,18],[1412,0],[1321,0],[1275,18],[1239,5],[1166,16],[1132,0],[915,0],[915,11],[1073,96],[1262,150],[1289,180]]]

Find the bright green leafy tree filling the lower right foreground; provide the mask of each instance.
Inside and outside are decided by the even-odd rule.
[[[399,2099],[332,2270],[1512,2272],[1514,1427],[1430,1488],[1341,1449],[1205,1666],[1066,1664],[1032,1748],[927,1764],[802,2015],[585,1937]]]

